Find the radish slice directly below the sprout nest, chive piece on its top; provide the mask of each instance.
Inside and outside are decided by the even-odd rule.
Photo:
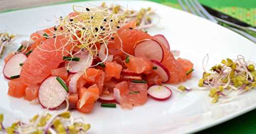
[[[92,63],[93,59],[90,57],[88,51],[80,51],[74,57],[80,58],[80,60],[77,61],[66,61],[65,66],[71,73],[76,73],[79,71],[83,71],[84,69],[89,68]]]

